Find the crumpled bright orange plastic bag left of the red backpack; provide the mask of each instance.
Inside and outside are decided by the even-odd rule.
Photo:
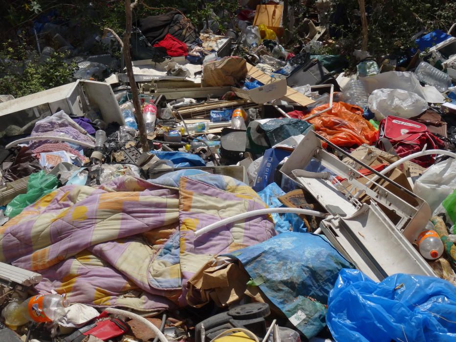
[[[312,109],[301,119],[327,108],[329,104]],[[373,145],[377,140],[377,131],[368,120],[362,116],[363,110],[344,102],[334,102],[331,110],[320,114],[308,122],[315,127],[315,131],[339,147]]]

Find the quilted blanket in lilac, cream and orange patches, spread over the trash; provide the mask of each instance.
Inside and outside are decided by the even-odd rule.
[[[71,302],[98,307],[163,310],[186,305],[188,279],[213,256],[276,235],[263,215],[195,238],[208,224],[267,206],[227,176],[157,183],[126,176],[97,188],[59,188],[0,228],[0,261],[41,273],[40,293],[66,293]]]

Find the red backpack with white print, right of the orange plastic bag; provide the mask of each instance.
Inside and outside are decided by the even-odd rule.
[[[426,125],[419,122],[392,115],[380,122],[377,138],[377,147],[380,149],[387,152],[394,149],[402,158],[423,150],[425,146],[426,150],[445,148],[443,141],[431,133]],[[425,168],[434,164],[434,161],[434,155],[412,159],[412,162]]]

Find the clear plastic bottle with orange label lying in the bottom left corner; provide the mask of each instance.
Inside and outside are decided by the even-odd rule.
[[[65,316],[65,307],[69,305],[61,295],[37,295],[21,304],[8,304],[2,311],[5,322],[12,327],[18,327],[31,322],[53,322],[59,321]]]

